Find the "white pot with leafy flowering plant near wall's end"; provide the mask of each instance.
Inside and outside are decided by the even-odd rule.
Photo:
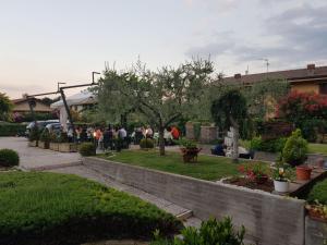
[[[288,193],[290,189],[290,181],[293,175],[293,169],[288,164],[277,164],[272,168],[275,191],[278,193]]]

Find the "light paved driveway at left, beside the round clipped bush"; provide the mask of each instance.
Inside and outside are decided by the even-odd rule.
[[[9,148],[20,155],[20,167],[28,170],[47,170],[60,167],[76,166],[81,157],[76,152],[58,152],[37,147],[28,147],[24,137],[0,137],[0,149]]]

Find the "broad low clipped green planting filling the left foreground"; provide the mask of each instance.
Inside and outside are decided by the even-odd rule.
[[[0,173],[0,244],[81,244],[150,237],[181,225],[169,213],[75,175]]]

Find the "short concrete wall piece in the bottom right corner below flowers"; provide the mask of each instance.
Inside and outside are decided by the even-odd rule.
[[[305,218],[305,245],[326,245],[327,223]]]

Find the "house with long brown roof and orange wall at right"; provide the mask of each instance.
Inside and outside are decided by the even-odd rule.
[[[265,79],[287,79],[292,90],[300,93],[316,93],[327,95],[327,66],[307,64],[306,69],[294,69],[287,71],[257,73],[222,78],[223,84],[245,85],[262,82]]]

